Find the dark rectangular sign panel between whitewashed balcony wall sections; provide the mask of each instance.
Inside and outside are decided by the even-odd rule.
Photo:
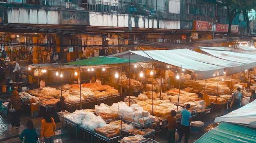
[[[88,12],[61,11],[62,24],[89,25]]]

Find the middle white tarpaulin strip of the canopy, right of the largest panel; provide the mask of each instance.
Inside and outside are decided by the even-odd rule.
[[[208,55],[204,55],[195,51],[191,51],[189,49],[177,49],[168,51],[173,54],[181,55],[183,57],[188,57],[189,59],[196,60],[198,62],[204,62],[207,64],[213,64],[217,66],[223,66],[227,70],[227,75],[232,75],[235,73],[243,72],[246,68],[243,63],[227,61],[225,59],[220,59],[217,57],[212,57]]]

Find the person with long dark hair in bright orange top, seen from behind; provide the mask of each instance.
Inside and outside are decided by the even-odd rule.
[[[54,143],[53,136],[56,130],[54,119],[50,114],[45,114],[44,119],[41,121],[41,138],[45,143]]]

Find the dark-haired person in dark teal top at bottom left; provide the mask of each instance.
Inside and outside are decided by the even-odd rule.
[[[38,140],[37,132],[34,128],[33,122],[31,120],[27,121],[27,129],[23,130],[20,134],[20,140],[24,139],[24,143],[36,143]]]

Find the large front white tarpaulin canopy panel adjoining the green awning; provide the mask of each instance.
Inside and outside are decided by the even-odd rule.
[[[222,66],[198,62],[181,55],[173,54],[172,51],[173,50],[126,51],[123,53],[110,55],[109,57],[129,58],[127,55],[133,53],[142,57],[146,57],[147,59],[145,59],[145,61],[154,59],[155,61],[163,62],[177,67],[182,66],[182,68],[193,71],[196,80],[216,77],[213,76],[214,74],[217,76],[223,75],[224,67]],[[136,57],[136,59],[137,58],[138,57]],[[134,59],[133,55],[130,55],[130,59]]]

